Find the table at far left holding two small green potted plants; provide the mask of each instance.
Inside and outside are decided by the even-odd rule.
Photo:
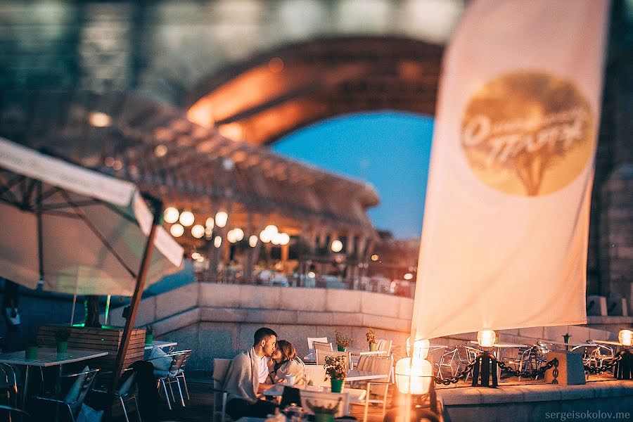
[[[59,372],[61,375],[63,364],[70,364],[72,362],[81,362],[88,359],[95,359],[96,357],[106,356],[108,352],[99,352],[98,350],[71,350],[68,349],[65,353],[58,353],[57,350],[49,347],[39,347],[37,350],[37,358],[33,360],[25,359],[25,351],[11,352],[0,354],[0,363],[8,365],[20,365],[25,366],[24,373],[24,391],[22,397],[22,407],[25,406],[28,387],[29,387],[29,370],[31,366],[39,366],[41,368],[48,368],[50,366],[59,366]]]

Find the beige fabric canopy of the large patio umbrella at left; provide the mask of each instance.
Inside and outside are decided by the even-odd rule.
[[[136,186],[0,138],[1,276],[28,288],[132,296],[153,214]],[[145,286],[181,267],[161,226]]]

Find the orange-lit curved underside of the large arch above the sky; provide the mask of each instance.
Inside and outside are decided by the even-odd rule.
[[[403,37],[312,39],[214,73],[183,106],[189,120],[257,145],[357,111],[433,115],[442,51]]]

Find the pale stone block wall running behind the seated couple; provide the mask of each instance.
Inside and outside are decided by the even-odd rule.
[[[113,325],[124,324],[121,312],[120,308],[111,312]],[[366,347],[365,333],[371,327],[376,338],[392,340],[394,357],[399,359],[406,354],[402,346],[409,337],[412,312],[412,299],[381,293],[192,283],[142,300],[136,326],[152,323],[156,340],[177,341],[178,350],[194,350],[190,369],[209,372],[213,358],[231,358],[248,349],[253,333],[262,326],[293,343],[300,357],[307,354],[308,337],[327,337],[333,343],[335,328],[351,336],[354,347]],[[499,338],[533,344],[544,339],[562,341],[565,333],[574,343],[617,338],[617,331],[588,326],[516,328],[499,331]],[[477,333],[463,333],[431,343],[461,345],[476,338]]]

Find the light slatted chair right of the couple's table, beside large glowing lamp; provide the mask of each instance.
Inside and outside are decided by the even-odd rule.
[[[367,354],[360,357],[356,369],[359,371],[384,374],[383,378],[377,378],[371,381],[357,381],[353,383],[354,388],[345,389],[345,391],[350,393],[351,404],[362,404],[365,407],[363,422],[367,421],[370,403],[382,404],[383,419],[385,418],[385,413],[387,411],[387,395],[389,392],[389,386],[392,384],[392,368],[392,357],[378,357]]]

